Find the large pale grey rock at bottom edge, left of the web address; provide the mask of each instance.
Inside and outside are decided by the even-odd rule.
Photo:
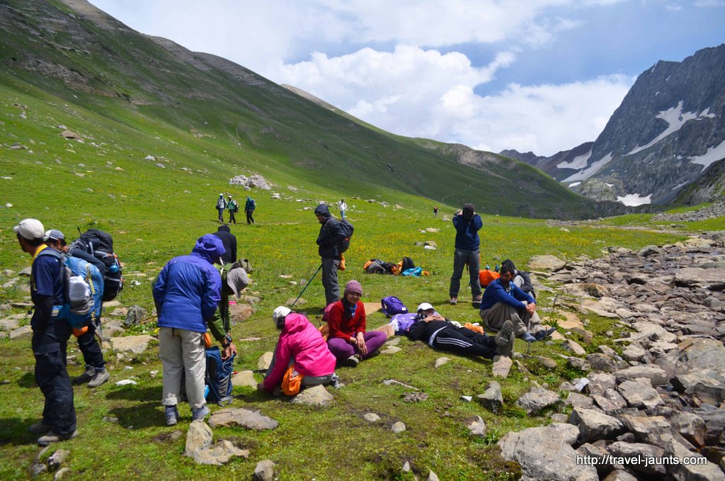
[[[498,446],[501,456],[521,464],[523,481],[597,481],[594,466],[578,465],[576,451],[551,427],[508,432]]]

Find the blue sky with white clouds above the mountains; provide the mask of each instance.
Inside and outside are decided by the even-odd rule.
[[[725,42],[725,0],[91,3],[387,131],[537,155],[595,140],[658,60]]]

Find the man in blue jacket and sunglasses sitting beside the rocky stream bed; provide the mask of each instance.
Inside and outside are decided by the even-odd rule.
[[[526,342],[542,341],[555,331],[544,328],[537,314],[534,297],[526,294],[512,282],[515,269],[513,263],[504,263],[501,276],[486,287],[481,300],[481,320],[492,331],[502,328],[506,321],[513,322],[516,337]]]

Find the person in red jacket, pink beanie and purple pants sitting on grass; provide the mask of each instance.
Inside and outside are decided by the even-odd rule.
[[[387,339],[384,332],[365,332],[365,305],[360,302],[363,286],[358,281],[345,284],[342,300],[330,308],[327,345],[344,366],[355,367],[362,359],[376,354]]]

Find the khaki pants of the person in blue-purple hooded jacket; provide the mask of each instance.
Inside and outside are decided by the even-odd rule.
[[[181,394],[181,373],[186,376],[186,398],[192,409],[202,408],[207,371],[204,334],[174,327],[159,328],[159,359],[164,366],[163,406],[176,406]]]

